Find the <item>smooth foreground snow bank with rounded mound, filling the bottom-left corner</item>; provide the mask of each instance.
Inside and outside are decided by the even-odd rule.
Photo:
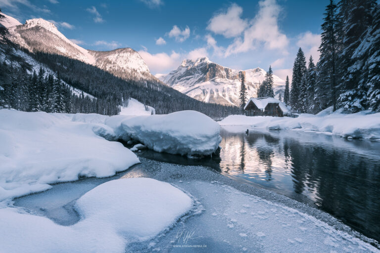
[[[77,201],[83,219],[72,226],[14,208],[0,209],[0,252],[124,253],[128,243],[157,235],[191,207],[190,197],[168,183],[112,180]]]

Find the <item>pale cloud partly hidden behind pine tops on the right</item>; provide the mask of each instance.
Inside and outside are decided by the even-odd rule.
[[[305,52],[305,57],[308,60],[310,55],[313,56],[314,63],[319,60],[318,47],[321,44],[321,35],[306,32],[298,36],[297,45]]]

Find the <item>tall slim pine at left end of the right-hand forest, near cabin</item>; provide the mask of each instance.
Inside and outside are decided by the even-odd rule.
[[[293,77],[291,79],[290,105],[293,110],[298,111],[302,107],[304,94],[301,89],[302,78],[306,73],[306,59],[301,47],[298,49],[297,57],[293,65]]]

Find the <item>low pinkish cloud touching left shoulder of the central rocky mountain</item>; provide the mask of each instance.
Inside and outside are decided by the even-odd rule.
[[[181,63],[181,55],[175,51],[168,55],[167,53],[150,54],[146,50],[140,50],[139,54],[152,73],[168,73]]]

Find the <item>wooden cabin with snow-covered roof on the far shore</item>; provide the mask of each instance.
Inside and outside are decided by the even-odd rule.
[[[250,98],[244,106],[246,116],[284,117],[289,113],[287,106],[273,97]]]

